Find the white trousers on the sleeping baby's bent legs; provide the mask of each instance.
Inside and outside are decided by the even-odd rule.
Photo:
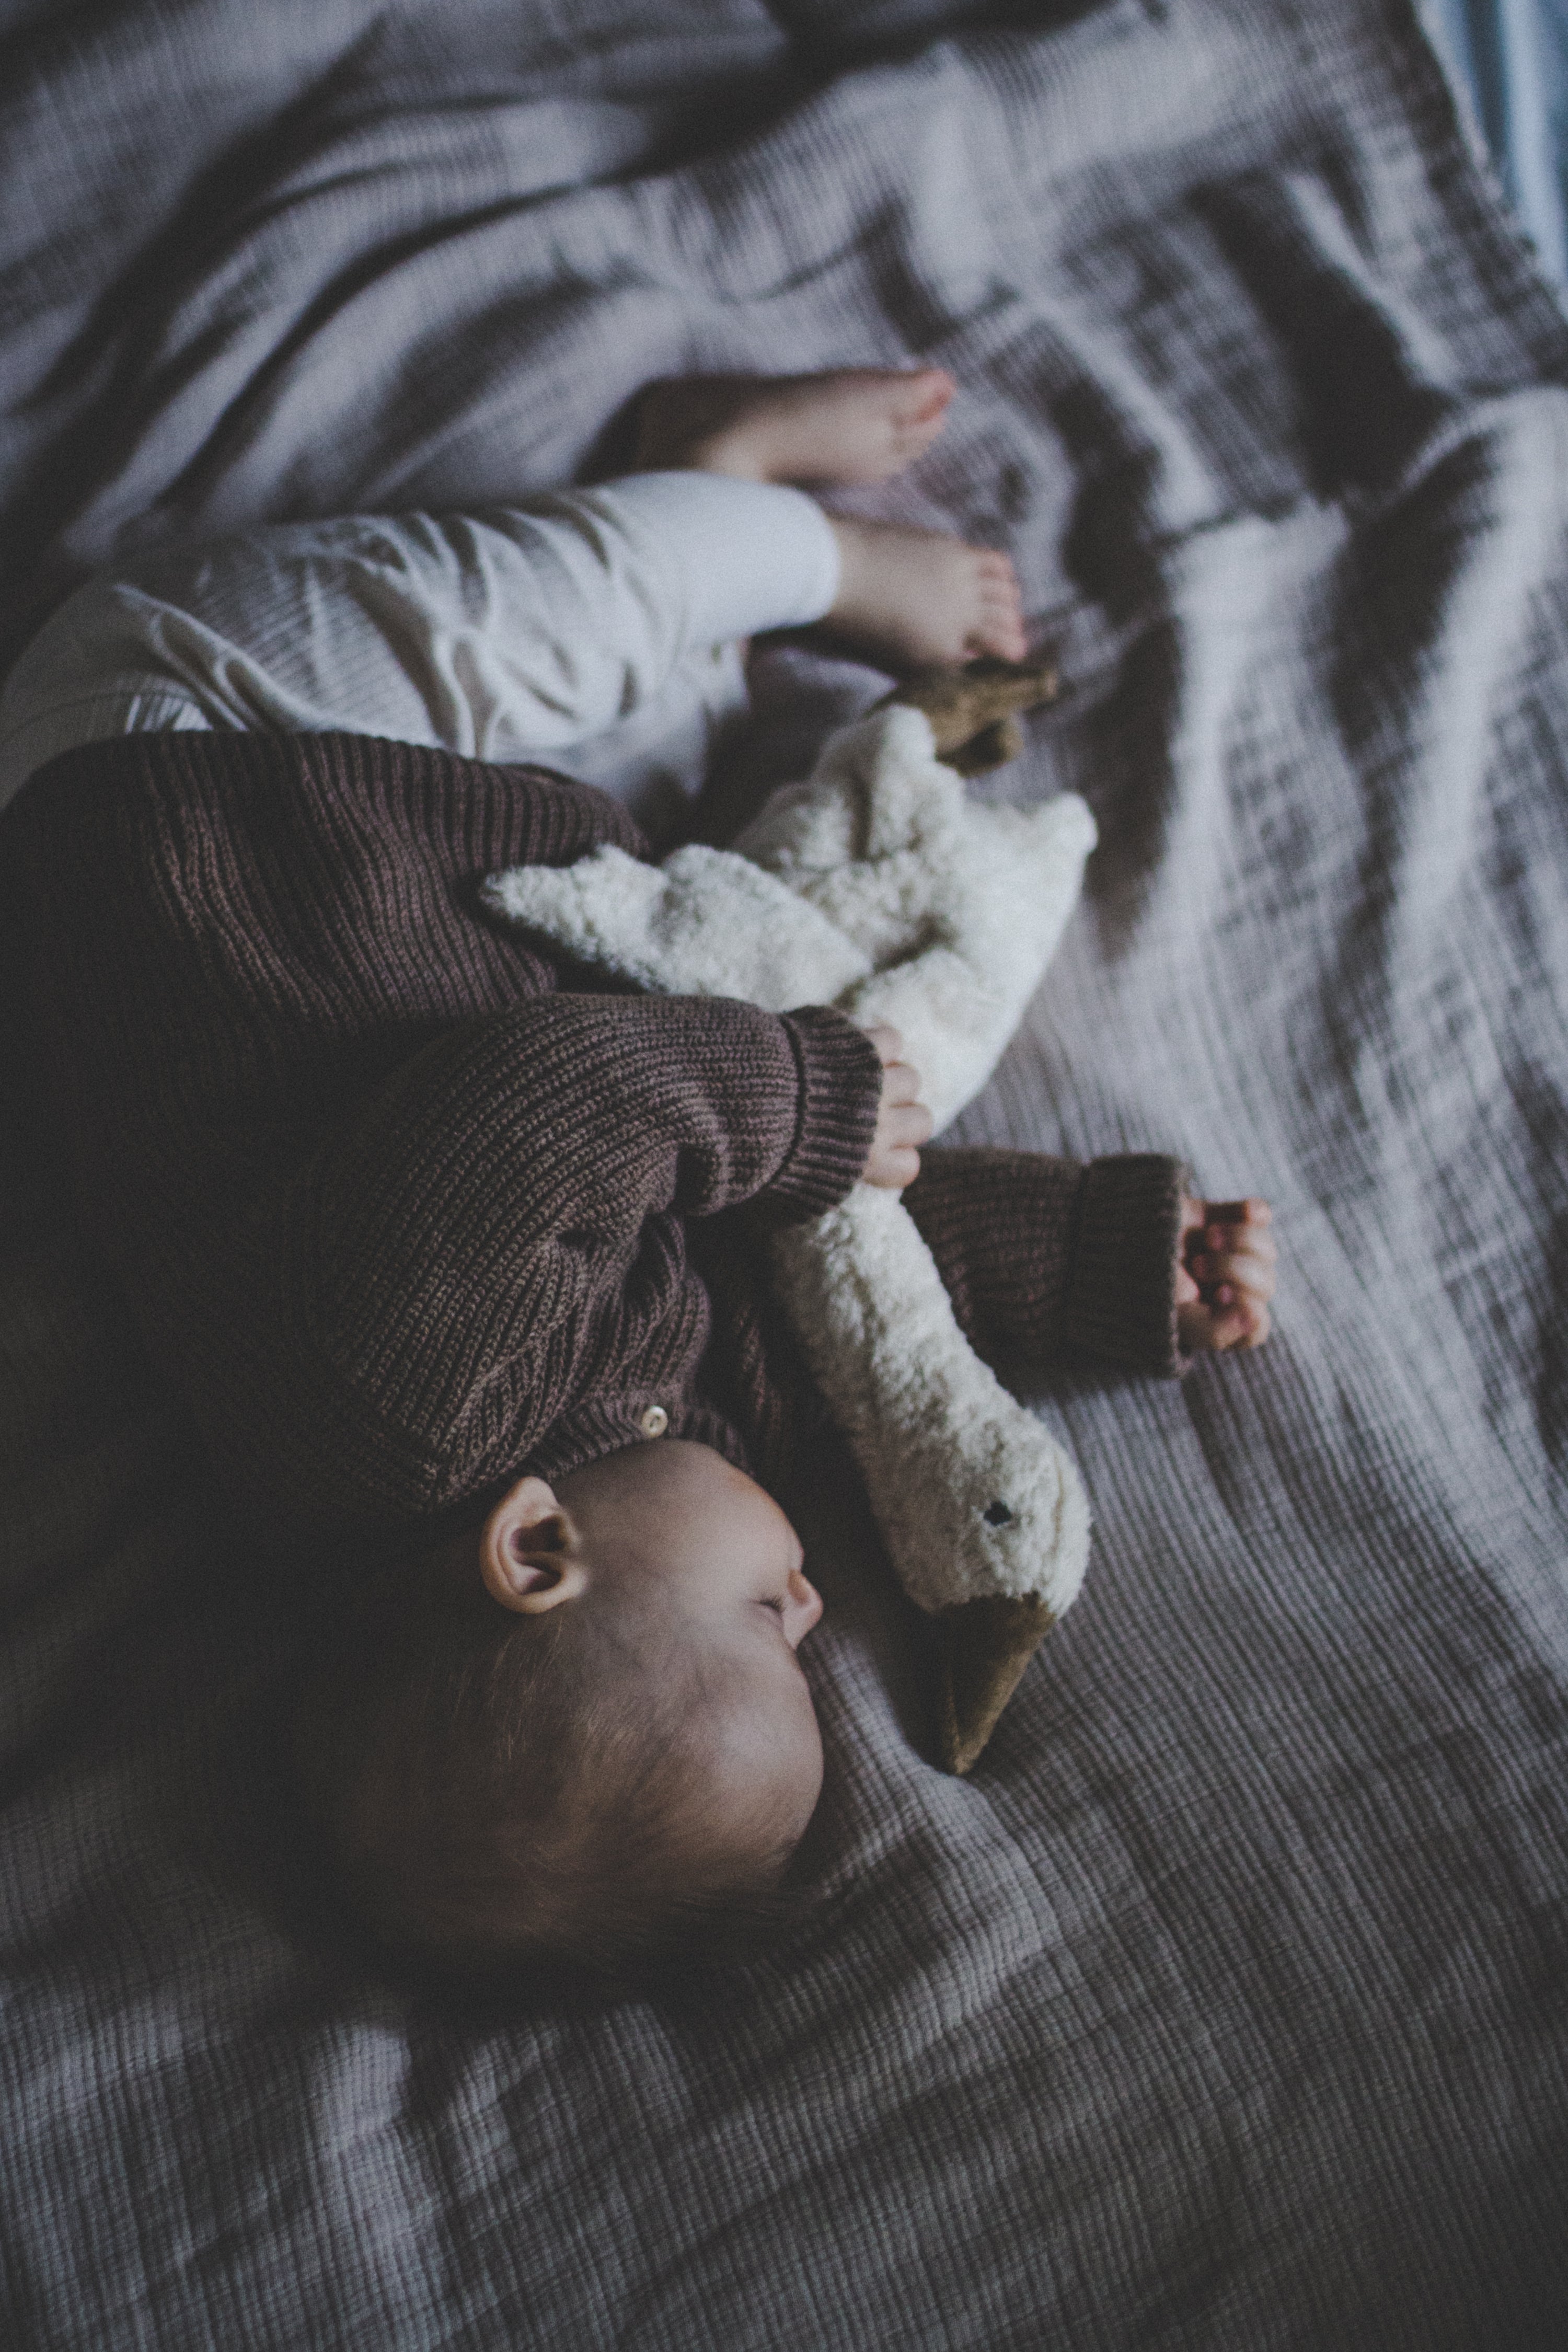
[[[705,473],[169,550],[80,588],[12,670],[0,807],[45,760],[141,729],[562,755],[614,739],[677,677],[710,706],[733,699],[738,663],[715,647],[818,621],[837,579],[811,499]]]

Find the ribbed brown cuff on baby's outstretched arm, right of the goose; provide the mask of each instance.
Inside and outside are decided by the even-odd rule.
[[[1084,1169],[1063,1338],[1128,1371],[1178,1374],[1175,1249],[1187,1171],[1164,1152]]]

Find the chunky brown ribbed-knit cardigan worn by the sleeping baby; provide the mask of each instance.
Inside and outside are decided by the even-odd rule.
[[[214,1465],[280,1522],[411,1529],[670,1435],[778,1484],[816,1406],[759,1225],[856,1181],[837,1011],[607,990],[480,880],[642,854],[599,793],[362,736],[143,734],[0,826],[80,1211]],[[1173,1367],[1180,1171],[924,1157],[971,1338]]]

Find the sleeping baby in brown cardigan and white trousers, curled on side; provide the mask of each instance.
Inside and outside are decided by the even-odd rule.
[[[776,1501],[823,1423],[769,1223],[900,1188],[997,1359],[1267,1336],[1262,1202],[922,1150],[891,1030],[611,993],[477,910],[496,868],[644,851],[628,802],[679,804],[757,630],[1023,656],[1004,555],[799,487],[891,475],[950,397],[656,386],[618,482],[165,555],[0,699],[85,1221],[223,1508],[357,1569],[296,1750],[386,1943],[623,1969],[766,1912],[823,1776]]]

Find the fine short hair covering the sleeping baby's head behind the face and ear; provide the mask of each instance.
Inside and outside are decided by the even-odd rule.
[[[515,1616],[416,1562],[343,1616],[294,1715],[310,1816],[390,1955],[651,1978],[792,1910],[792,1842],[701,1837],[705,1668],[604,1609]]]

